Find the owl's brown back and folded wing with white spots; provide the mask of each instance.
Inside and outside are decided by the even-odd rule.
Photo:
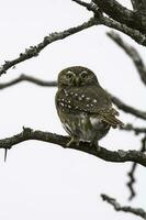
[[[88,113],[116,128],[123,125],[116,116],[119,112],[112,108],[112,101],[108,92],[100,86],[86,88],[71,88],[57,95],[59,108],[67,113]]]

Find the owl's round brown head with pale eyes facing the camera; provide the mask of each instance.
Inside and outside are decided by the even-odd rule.
[[[58,75],[58,87],[81,87],[97,85],[98,79],[92,70],[82,66],[71,66],[63,69]]]

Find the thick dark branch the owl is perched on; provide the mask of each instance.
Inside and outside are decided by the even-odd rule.
[[[97,147],[94,145],[90,146],[89,143],[80,143],[79,146],[75,144],[72,144],[71,146],[67,146],[67,143],[69,141],[69,138],[67,136],[43,131],[33,131],[32,129],[27,128],[26,129],[24,128],[23,132],[14,136],[0,140],[0,148],[11,148],[13,145],[27,140],[38,140],[58,144],[64,148],[74,148],[82,151],[108,162],[115,162],[115,163],[136,162],[143,166],[146,166],[146,155],[138,151],[122,151],[122,150],[109,151],[103,147],[101,147],[100,151],[97,151]]]

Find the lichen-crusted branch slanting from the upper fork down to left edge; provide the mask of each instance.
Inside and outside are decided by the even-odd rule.
[[[45,36],[43,42],[41,42],[40,44],[37,44],[35,46],[30,46],[30,48],[26,48],[24,53],[21,53],[18,58],[15,58],[13,61],[5,61],[5,63],[0,67],[0,76],[2,74],[5,74],[7,70],[9,68],[11,68],[12,66],[14,66],[19,63],[22,63],[26,59],[30,59],[32,57],[36,57],[40,54],[40,52],[43,48],[45,48],[47,45],[49,45],[50,43],[58,41],[58,40],[66,38],[67,36],[70,36],[75,33],[78,33],[78,32],[80,32],[85,29],[88,29],[90,26],[93,26],[96,24],[98,24],[98,21],[94,18],[91,18],[88,22],[85,22],[81,25],[70,28],[63,32],[55,32],[55,33],[49,34],[48,36]]]

